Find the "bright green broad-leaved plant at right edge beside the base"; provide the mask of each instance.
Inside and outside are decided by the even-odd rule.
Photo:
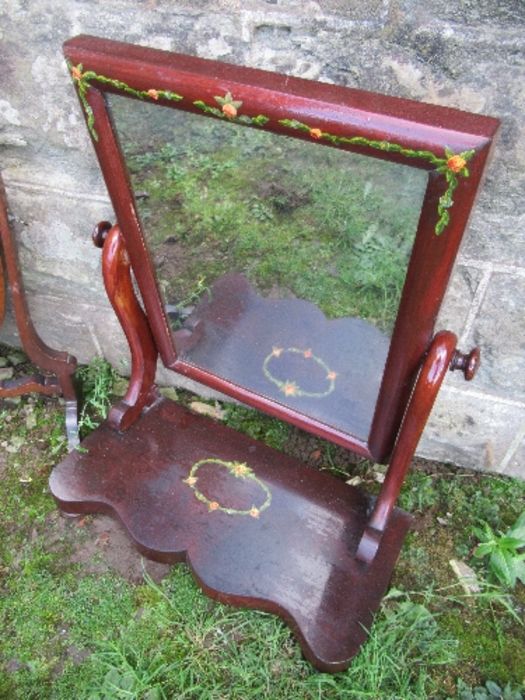
[[[474,533],[480,541],[474,556],[489,557],[493,576],[509,588],[514,588],[517,581],[525,584],[525,511],[505,534],[494,532],[487,523],[475,528]]]

